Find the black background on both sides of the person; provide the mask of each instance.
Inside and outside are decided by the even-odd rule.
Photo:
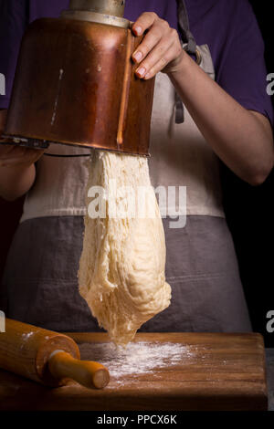
[[[250,3],[265,40],[268,72],[274,73],[273,24],[269,19],[274,16],[274,2],[250,0]],[[227,222],[237,250],[253,330],[264,335],[268,347],[274,347],[274,332],[270,334],[266,330],[266,315],[269,310],[274,310],[274,204],[271,204],[274,172],[266,183],[256,188],[243,183],[225,166],[222,167],[222,177]],[[6,203],[0,199],[0,277],[23,201]]]

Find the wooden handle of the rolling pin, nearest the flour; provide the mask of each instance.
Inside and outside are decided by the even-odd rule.
[[[48,360],[48,369],[57,379],[72,379],[89,389],[103,389],[110,382],[110,373],[94,361],[79,361],[65,351],[54,351]]]

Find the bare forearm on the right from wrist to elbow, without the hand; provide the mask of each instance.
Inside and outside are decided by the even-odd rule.
[[[243,108],[184,54],[169,74],[199,130],[219,158],[246,182],[263,183],[273,168],[269,120]]]

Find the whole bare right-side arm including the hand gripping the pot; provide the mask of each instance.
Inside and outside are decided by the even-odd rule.
[[[181,46],[178,33],[154,13],[144,13],[132,26],[135,35],[149,29],[133,53],[140,78],[163,71],[171,78],[199,130],[219,158],[244,181],[257,185],[274,164],[269,120],[247,110],[196,65]],[[138,53],[141,53],[141,56]]]

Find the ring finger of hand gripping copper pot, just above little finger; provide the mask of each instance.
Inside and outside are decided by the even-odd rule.
[[[151,72],[156,64],[162,63],[162,68],[167,65],[168,61],[171,61],[171,56],[174,55],[173,42],[170,39],[165,38],[154,47],[150,54],[142,61],[140,67],[137,68],[136,74],[139,78],[144,78],[148,73]],[[171,58],[171,59],[170,59]]]

